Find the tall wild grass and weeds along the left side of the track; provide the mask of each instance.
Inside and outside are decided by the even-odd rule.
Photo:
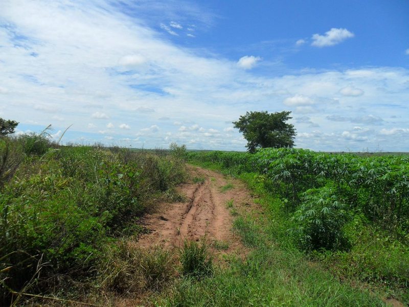
[[[8,289],[19,291],[30,280],[26,291],[37,292],[100,274],[108,257],[101,247],[109,247],[115,237],[131,229],[138,231],[131,226],[152,200],[170,198],[174,186],[186,178],[183,161],[174,156],[85,146],[59,147],[44,156],[44,151],[33,149],[42,148],[35,147],[39,139],[43,137],[29,135],[0,144],[0,150],[18,144],[13,155],[26,156],[13,180],[0,188],[0,300],[4,301]],[[29,141],[34,146],[27,145]],[[153,271],[162,260],[145,259],[140,265],[152,273],[147,273],[151,281],[144,282],[155,289]]]

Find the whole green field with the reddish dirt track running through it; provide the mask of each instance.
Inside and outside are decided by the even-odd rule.
[[[3,305],[409,303],[408,156],[0,142]]]

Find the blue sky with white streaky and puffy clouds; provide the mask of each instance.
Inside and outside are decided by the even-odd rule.
[[[409,2],[0,0],[0,117],[63,142],[245,150],[246,111],[297,147],[409,151]]]

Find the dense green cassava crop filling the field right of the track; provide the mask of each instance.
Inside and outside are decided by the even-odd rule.
[[[279,245],[297,245],[343,280],[382,285],[409,303],[409,156],[263,148],[189,152],[188,159],[243,179],[268,212],[263,230]],[[247,246],[264,237],[252,221],[239,217],[234,225]]]

